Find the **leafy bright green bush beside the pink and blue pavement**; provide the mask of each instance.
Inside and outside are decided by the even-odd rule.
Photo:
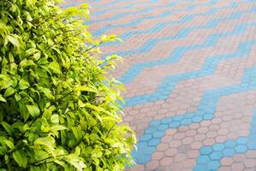
[[[83,25],[88,5],[0,0],[0,170],[122,170],[134,132],[122,85]]]

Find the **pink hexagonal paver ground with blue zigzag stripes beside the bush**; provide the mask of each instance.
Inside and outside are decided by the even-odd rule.
[[[255,0],[89,3],[93,34],[124,40],[102,49],[124,58],[134,170],[256,170]]]

